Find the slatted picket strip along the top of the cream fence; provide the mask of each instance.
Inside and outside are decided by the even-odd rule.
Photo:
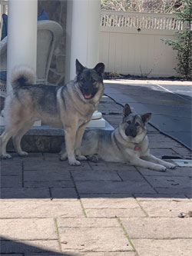
[[[141,12],[101,11],[101,27],[182,30],[176,15]]]

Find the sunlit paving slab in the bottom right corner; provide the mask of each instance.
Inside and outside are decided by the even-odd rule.
[[[135,248],[141,256],[190,256],[191,239],[155,240],[133,239]]]

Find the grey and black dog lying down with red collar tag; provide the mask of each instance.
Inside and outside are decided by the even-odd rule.
[[[150,154],[147,138],[147,121],[151,113],[136,115],[129,105],[124,106],[123,121],[114,131],[91,130],[84,133],[81,153],[92,161],[99,158],[104,161],[129,163],[130,165],[165,171],[175,165]],[[62,149],[61,158],[66,153]]]

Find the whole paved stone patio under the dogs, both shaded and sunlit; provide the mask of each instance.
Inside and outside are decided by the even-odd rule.
[[[118,126],[122,108],[100,107]],[[189,157],[177,141],[147,125],[151,152]],[[2,256],[190,256],[191,168],[165,173],[84,161],[70,167],[58,154],[2,161]]]

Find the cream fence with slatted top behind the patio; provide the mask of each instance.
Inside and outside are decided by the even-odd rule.
[[[174,15],[102,11],[100,62],[124,75],[177,76],[177,51],[161,38],[177,39],[181,29]]]

